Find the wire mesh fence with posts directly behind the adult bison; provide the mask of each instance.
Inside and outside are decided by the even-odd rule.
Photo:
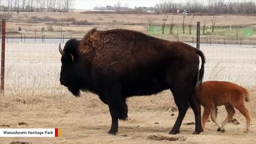
[[[58,44],[62,43],[63,47],[65,42],[73,36],[68,37],[64,34],[64,39],[63,37],[44,38],[44,36],[41,39],[35,39],[24,34],[22,39],[15,39],[7,34],[10,23],[6,22],[6,29],[4,26],[5,22],[2,21],[1,85],[4,87],[1,87],[1,90],[4,89],[4,94],[68,94],[67,89],[59,82],[61,55]],[[85,28],[88,31],[93,27]],[[87,31],[84,31],[81,37],[74,37],[82,38]],[[181,41],[194,47],[197,47],[197,37],[200,37],[198,46],[206,57],[203,81],[230,81],[249,89],[255,87],[256,37],[202,35],[202,25],[198,32],[200,36],[153,36],[164,40]]]

